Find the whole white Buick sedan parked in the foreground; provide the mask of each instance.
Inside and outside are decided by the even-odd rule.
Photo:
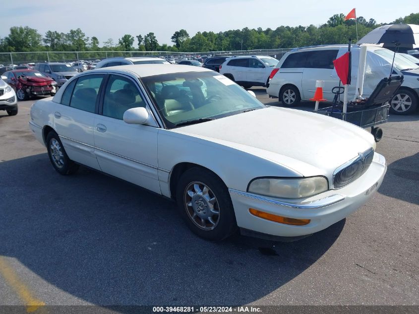
[[[84,165],[172,198],[209,240],[320,231],[364,204],[386,172],[364,129],[266,107],[187,65],[83,72],[34,103],[30,127],[60,174]]]

